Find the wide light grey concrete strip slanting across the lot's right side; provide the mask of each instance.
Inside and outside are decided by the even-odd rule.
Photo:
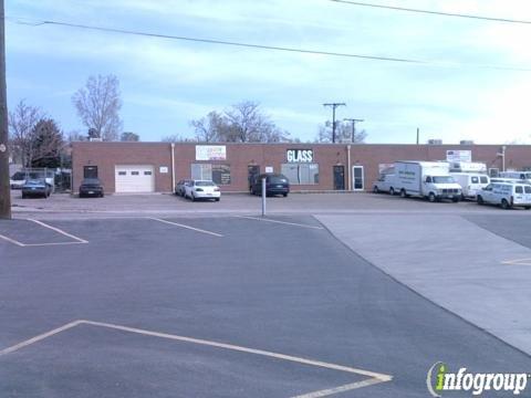
[[[397,281],[531,354],[531,265],[504,263],[531,259],[530,249],[459,216],[316,218]]]

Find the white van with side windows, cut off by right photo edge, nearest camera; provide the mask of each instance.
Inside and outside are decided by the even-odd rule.
[[[503,209],[521,206],[531,209],[531,185],[523,182],[491,182],[477,196],[478,205],[500,205]]]

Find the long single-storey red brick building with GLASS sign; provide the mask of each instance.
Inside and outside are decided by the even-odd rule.
[[[450,151],[450,153],[449,153]],[[454,153],[451,153],[454,151]],[[73,143],[73,187],[97,176],[106,192],[169,192],[183,178],[214,179],[247,191],[256,172],[282,172],[292,191],[369,190],[395,160],[465,154],[491,172],[531,168],[529,145]]]

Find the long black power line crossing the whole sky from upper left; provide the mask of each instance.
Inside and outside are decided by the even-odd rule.
[[[335,1],[335,0],[332,0]],[[488,70],[499,70],[499,71],[516,71],[516,72],[531,72],[531,67],[528,66],[508,66],[508,65],[480,65],[480,64],[464,64],[458,62],[434,62],[434,61],[424,61],[415,60],[407,57],[395,57],[395,56],[383,56],[383,55],[367,55],[367,54],[355,54],[355,53],[343,53],[343,52],[331,52],[331,51],[320,51],[320,50],[309,50],[309,49],[296,49],[296,48],[285,48],[277,45],[266,45],[266,44],[254,44],[254,43],[243,43],[243,42],[233,42],[226,40],[217,39],[200,39],[191,36],[181,36],[173,34],[162,34],[162,33],[149,33],[136,30],[118,29],[118,28],[105,28],[97,25],[87,25],[80,23],[62,22],[62,21],[52,21],[52,20],[30,20],[27,18],[7,18],[9,21],[23,24],[29,27],[42,27],[42,25],[59,25],[66,28],[75,29],[85,29],[93,31],[101,31],[107,33],[119,33],[119,34],[131,34],[131,35],[140,35],[147,38],[156,39],[167,39],[167,40],[180,40],[188,42],[199,42],[208,44],[220,44],[220,45],[232,45],[248,49],[259,49],[259,50],[272,50],[272,51],[284,51],[291,53],[302,53],[302,54],[314,54],[314,55],[325,55],[325,56],[340,56],[340,57],[351,57],[351,59],[362,59],[362,60],[373,60],[373,61],[386,61],[386,62],[399,62],[399,63],[409,63],[417,65],[433,65],[433,66],[442,66],[442,67],[457,67],[457,66],[468,66],[476,69],[488,69]]]

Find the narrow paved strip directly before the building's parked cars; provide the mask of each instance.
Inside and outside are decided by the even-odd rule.
[[[85,218],[91,216],[138,214],[249,214],[260,213],[261,198],[247,193],[225,193],[221,201],[191,202],[169,193],[107,195],[104,198],[80,199],[67,193],[55,193],[49,199],[22,199],[20,191],[12,193],[13,213],[20,218]],[[500,213],[492,206],[478,206],[472,201],[459,203],[429,203],[423,199],[403,199],[398,196],[374,193],[292,193],[288,198],[271,197],[267,201],[269,213],[315,214],[347,212],[407,213]],[[531,216],[531,211],[513,209],[507,213]]]

